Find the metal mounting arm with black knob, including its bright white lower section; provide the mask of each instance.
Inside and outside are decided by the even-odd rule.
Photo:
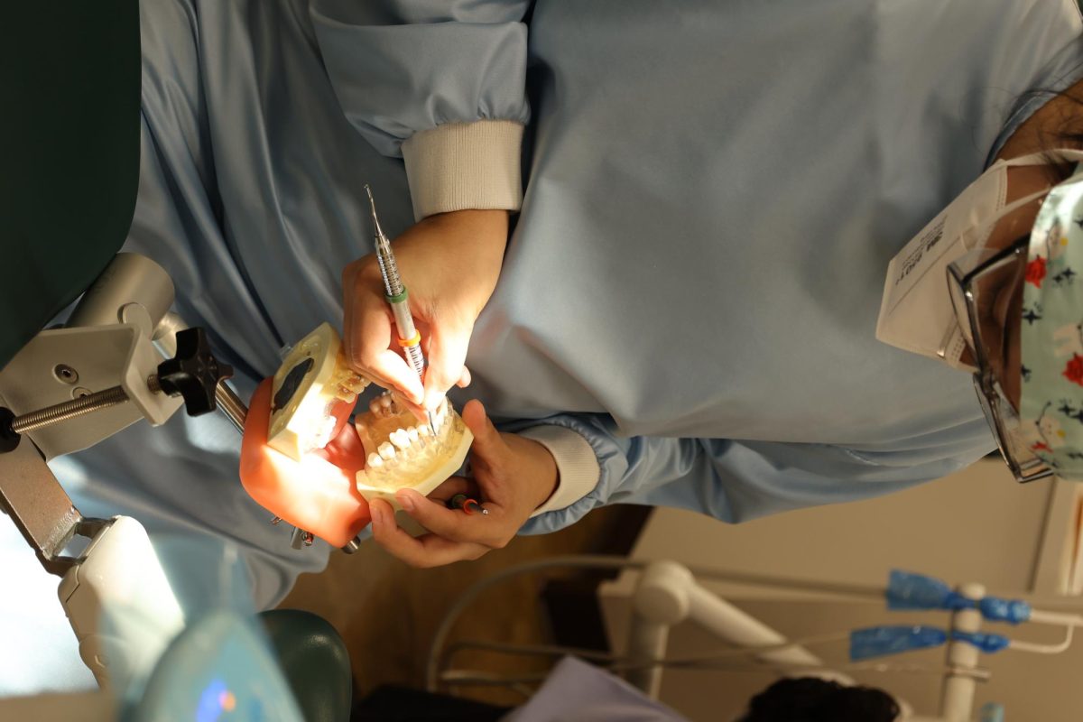
[[[135,629],[116,630],[114,642],[142,643],[106,645],[103,612],[122,605],[133,614],[115,623],[149,623],[167,641],[184,619],[139,522],[83,517],[47,461],[141,419],[159,425],[182,404],[198,416],[219,407],[218,395],[227,401],[221,408],[236,410],[239,402],[221,384],[230,367],[214,359],[201,329],[185,329],[168,311],[172,301],[172,283],[157,264],[120,253],[63,328],[38,333],[0,372],[0,508],[42,567],[62,578],[58,594],[80,656],[103,686],[110,672],[140,669],[162,652]],[[175,356],[164,358],[156,343]],[[88,546],[65,555],[76,536]]]

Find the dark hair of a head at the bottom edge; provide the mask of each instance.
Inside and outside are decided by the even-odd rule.
[[[753,697],[740,722],[895,722],[898,717],[899,706],[883,690],[803,677],[779,680]]]

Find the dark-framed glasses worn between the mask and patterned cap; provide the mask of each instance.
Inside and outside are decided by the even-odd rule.
[[[1053,473],[1031,451],[1017,406],[1022,373],[1019,326],[1029,245],[1028,236],[1003,249],[979,249],[948,267],[952,306],[976,368],[978,401],[1004,461],[1020,483]]]

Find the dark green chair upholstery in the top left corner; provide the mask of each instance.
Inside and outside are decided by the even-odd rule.
[[[136,0],[0,14],[0,369],[97,277],[139,186]]]

